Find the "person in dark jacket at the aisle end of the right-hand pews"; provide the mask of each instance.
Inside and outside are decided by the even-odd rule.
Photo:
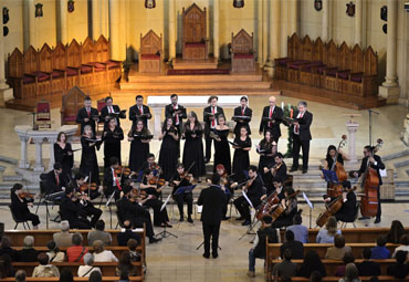
[[[258,230],[254,239],[254,247],[249,251],[249,272],[250,278],[255,276],[255,259],[265,259],[265,241],[269,239],[270,243],[279,242],[277,233],[271,227],[271,217],[263,217],[262,226]]]

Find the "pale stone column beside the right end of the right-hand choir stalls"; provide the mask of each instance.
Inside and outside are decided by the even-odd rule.
[[[385,82],[379,86],[379,95],[387,98],[388,104],[398,102],[400,90],[397,77],[397,25],[398,0],[388,0],[388,34],[386,54]]]

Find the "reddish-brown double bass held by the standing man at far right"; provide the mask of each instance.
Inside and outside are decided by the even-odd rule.
[[[379,150],[382,144],[382,139],[377,139],[377,145],[373,148],[368,157],[367,167],[363,176],[363,182],[360,185],[365,194],[360,198],[360,213],[363,217],[375,217],[378,211],[379,177],[378,171],[370,167],[369,158],[374,157],[375,153]]]

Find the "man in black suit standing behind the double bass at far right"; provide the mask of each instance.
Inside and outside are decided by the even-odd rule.
[[[374,147],[371,146],[365,146],[364,148],[364,158],[360,163],[360,168],[358,171],[354,173],[355,177],[359,177],[360,175],[365,174],[368,165],[374,168],[377,171],[378,178],[379,178],[379,186],[377,187],[377,196],[378,196],[378,211],[376,213],[375,223],[380,222],[381,217],[381,208],[380,208],[380,194],[379,194],[379,187],[382,185],[382,178],[380,177],[380,169],[385,169],[385,165],[380,157],[378,155],[375,155]],[[364,179],[365,181],[365,179]]]

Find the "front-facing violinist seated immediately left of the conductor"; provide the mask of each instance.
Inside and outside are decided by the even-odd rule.
[[[180,215],[179,221],[182,222],[185,220],[183,202],[186,202],[188,205],[188,222],[193,223],[193,220],[191,218],[191,215],[193,213],[193,195],[192,195],[192,192],[175,195],[175,192],[180,187],[190,186],[191,182],[193,181],[193,177],[192,177],[192,175],[188,174],[188,171],[185,171],[185,166],[182,164],[179,164],[176,167],[176,170],[177,170],[177,174],[174,177],[172,184],[175,186],[174,186],[174,190],[172,190],[171,195],[174,196],[174,199],[178,205],[179,215]]]

